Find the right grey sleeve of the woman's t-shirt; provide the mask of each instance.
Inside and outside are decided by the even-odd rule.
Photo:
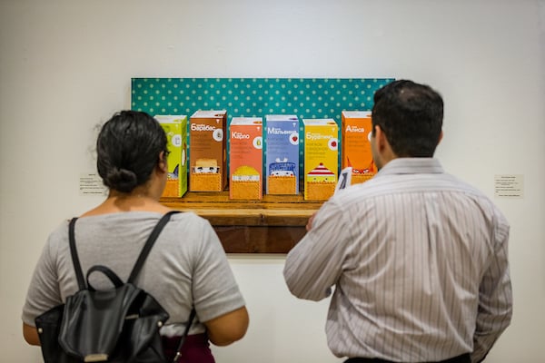
[[[223,246],[208,221],[193,270],[193,303],[205,322],[242,308],[243,295],[234,280]]]

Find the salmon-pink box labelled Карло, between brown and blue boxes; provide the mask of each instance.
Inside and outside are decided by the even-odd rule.
[[[260,200],[263,196],[263,120],[233,117],[229,124],[229,198]]]

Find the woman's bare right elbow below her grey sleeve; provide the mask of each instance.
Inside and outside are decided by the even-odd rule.
[[[222,316],[204,321],[208,338],[216,346],[227,346],[243,338],[249,324],[248,311],[245,307],[233,310]]]

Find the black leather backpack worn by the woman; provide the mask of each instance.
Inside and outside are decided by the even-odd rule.
[[[127,282],[103,265],[87,271],[86,282],[75,249],[74,218],[69,225],[70,252],[79,290],[59,305],[35,319],[45,363],[115,362],[165,363],[159,329],[168,313],[150,294],[134,286],[134,280],[169,221],[170,211],[161,218],[145,242]],[[112,281],[114,289],[95,290],[89,284],[91,273],[99,271]],[[176,357],[191,327],[193,309]]]

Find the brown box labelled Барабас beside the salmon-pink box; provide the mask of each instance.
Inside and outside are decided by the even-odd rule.
[[[227,186],[227,112],[196,111],[189,119],[189,190]]]

